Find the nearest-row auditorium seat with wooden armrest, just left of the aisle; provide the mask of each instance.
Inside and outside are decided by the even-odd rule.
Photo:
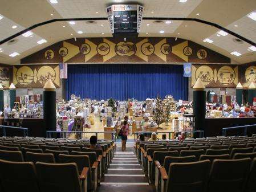
[[[40,192],[86,192],[87,175],[89,168],[84,168],[82,174],[78,173],[78,166],[70,164],[35,164],[38,175]],[[67,177],[68,175],[68,177]]]

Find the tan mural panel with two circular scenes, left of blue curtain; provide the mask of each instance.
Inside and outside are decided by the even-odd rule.
[[[51,79],[60,86],[59,65],[13,66],[13,83],[17,88],[42,88]]]

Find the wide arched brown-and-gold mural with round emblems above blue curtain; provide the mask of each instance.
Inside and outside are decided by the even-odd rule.
[[[21,60],[30,63],[230,63],[206,47],[180,38],[76,38]]]

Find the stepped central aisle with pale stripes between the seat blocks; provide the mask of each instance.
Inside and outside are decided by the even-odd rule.
[[[153,192],[133,153],[133,144],[133,142],[127,143],[127,152],[121,152],[121,144],[116,144],[115,156],[108,172],[101,179],[98,192]]]

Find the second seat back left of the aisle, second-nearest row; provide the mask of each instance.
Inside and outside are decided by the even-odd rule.
[[[52,153],[32,153],[26,152],[26,161],[45,162],[48,164],[55,164],[54,155]]]

